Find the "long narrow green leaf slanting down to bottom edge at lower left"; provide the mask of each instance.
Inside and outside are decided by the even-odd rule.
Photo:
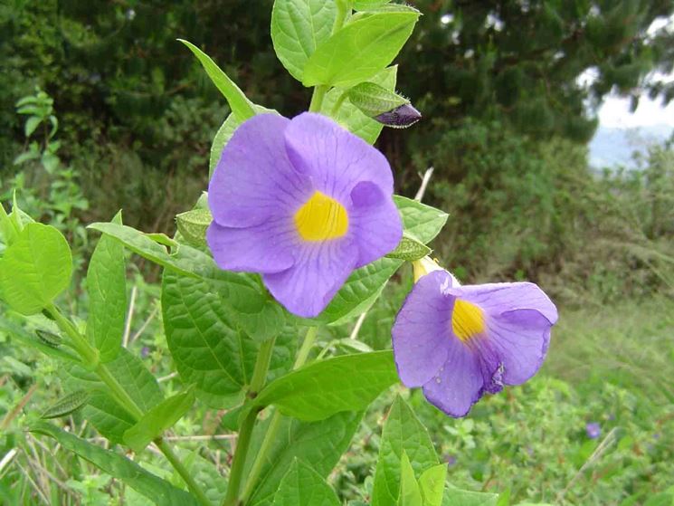
[[[148,473],[127,458],[118,453],[104,450],[100,446],[87,443],[79,437],[62,431],[58,427],[40,422],[31,428],[38,434],[51,436],[66,450],[76,453],[81,458],[94,464],[104,473],[126,483],[136,492],[154,501],[161,506],[198,506],[195,499],[171,483],[162,480],[152,473]]]

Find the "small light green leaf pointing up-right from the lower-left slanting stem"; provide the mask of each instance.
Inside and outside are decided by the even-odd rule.
[[[136,425],[124,433],[124,443],[134,452],[140,453],[147,444],[175,425],[194,404],[194,387],[168,397],[150,409]]]

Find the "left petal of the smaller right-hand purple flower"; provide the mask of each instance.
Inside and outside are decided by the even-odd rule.
[[[422,387],[447,361],[452,301],[441,291],[446,271],[423,276],[403,302],[391,331],[395,365],[406,387]]]

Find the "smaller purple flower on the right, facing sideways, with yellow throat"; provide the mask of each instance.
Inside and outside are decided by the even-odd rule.
[[[395,320],[398,374],[446,414],[467,415],[486,392],[536,374],[556,320],[555,304],[534,283],[460,286],[434,270],[414,285]]]

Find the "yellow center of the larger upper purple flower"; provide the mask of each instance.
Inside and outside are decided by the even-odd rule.
[[[348,215],[344,205],[316,191],[295,213],[295,228],[305,241],[337,239],[348,230]]]

